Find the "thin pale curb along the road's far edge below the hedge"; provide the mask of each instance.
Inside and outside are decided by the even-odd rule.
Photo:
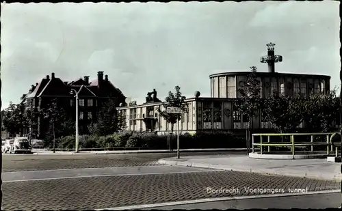
[[[237,148],[237,149],[190,149],[190,150],[180,150],[180,152],[244,152],[246,151],[246,148]],[[35,155],[85,155],[85,154],[150,154],[150,153],[176,153],[177,150],[163,150],[163,151],[121,151],[121,152],[115,152],[115,151],[103,151],[103,152],[92,152],[92,151],[83,151],[79,153],[75,152],[64,152],[64,153],[52,153],[51,151],[42,151],[42,152],[33,152]]]

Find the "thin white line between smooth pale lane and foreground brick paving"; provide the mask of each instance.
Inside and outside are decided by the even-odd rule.
[[[128,176],[128,175],[159,175],[159,174],[171,174],[171,173],[197,173],[197,172],[213,172],[213,171],[224,171],[224,170],[204,170],[204,171],[175,171],[175,172],[160,172],[160,173],[122,173],[122,174],[105,174],[105,175],[80,175],[63,178],[40,178],[40,179],[28,179],[28,180],[8,180],[5,182],[25,182],[25,181],[39,181],[39,180],[64,180],[73,178],[99,178],[99,177],[114,177],[114,176]]]

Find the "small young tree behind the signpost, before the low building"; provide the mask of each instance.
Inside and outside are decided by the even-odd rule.
[[[161,117],[163,117],[166,122],[171,124],[171,134],[173,136],[173,131],[174,131],[174,124],[177,123],[177,120],[181,120],[181,114],[179,113],[168,113],[167,109],[168,107],[178,107],[181,108],[183,111],[186,111],[187,109],[187,103],[185,103],[185,96],[182,96],[181,93],[181,87],[176,86],[174,87],[174,89],[176,90],[175,93],[172,93],[171,91],[168,93],[168,96],[165,98],[166,102],[163,102],[163,111],[161,111],[161,109],[157,109],[159,115],[161,115]],[[172,140],[172,137],[171,137]],[[170,145],[169,145],[170,147]]]

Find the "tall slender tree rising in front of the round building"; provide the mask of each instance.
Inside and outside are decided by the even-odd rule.
[[[242,115],[248,118],[248,137],[247,146],[250,145],[250,128],[252,127],[252,117],[259,114],[263,106],[263,99],[261,99],[261,81],[257,78],[257,67],[250,67],[250,74],[246,77],[246,83],[243,88],[237,91],[241,94],[241,98],[235,100],[234,106]],[[249,147],[248,147],[249,150]]]

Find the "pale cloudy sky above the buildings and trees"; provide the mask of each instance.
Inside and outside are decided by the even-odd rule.
[[[267,72],[269,42],[283,57],[276,72],[340,86],[339,1],[1,3],[1,27],[2,109],[51,72],[72,81],[104,71],[137,103],[176,85],[210,97],[210,74]]]

